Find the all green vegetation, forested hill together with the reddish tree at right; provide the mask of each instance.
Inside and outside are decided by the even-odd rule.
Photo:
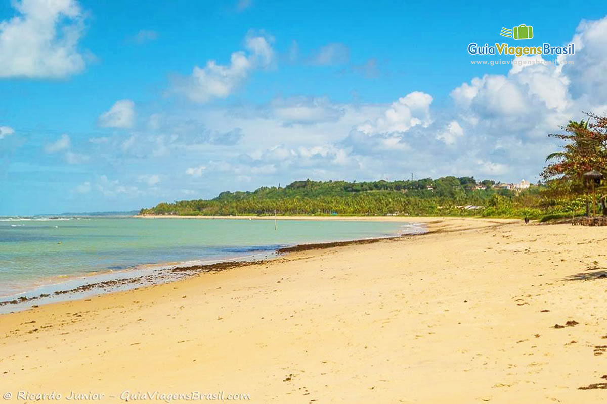
[[[592,122],[591,122],[592,121]],[[607,117],[588,113],[569,121],[563,151],[550,154],[543,183],[524,190],[493,180],[441,177],[419,180],[345,182],[296,181],[287,187],[253,192],[223,192],[211,200],[181,200],[141,209],[141,214],[177,215],[409,215],[529,217],[547,220],[589,214],[590,187],[583,173],[607,174]],[[601,211],[607,214],[607,187],[595,184]]]

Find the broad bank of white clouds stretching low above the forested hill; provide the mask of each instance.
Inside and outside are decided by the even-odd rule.
[[[602,21],[580,24],[575,41],[583,47],[576,45],[575,55],[560,59],[600,66]],[[174,115],[164,111],[151,116],[145,133],[87,144],[127,159],[148,159],[149,170],[142,172],[170,162],[174,176],[166,174],[154,185],[158,194],[173,187],[169,198],[190,194],[183,190],[209,197],[226,188],[307,177],[403,179],[414,173],[418,178],[533,180],[546,155],[557,149],[548,133],[569,119],[584,118],[582,111],[607,111],[605,93],[594,91],[607,77],[586,78],[575,64],[545,64],[541,56],[514,62],[505,74],[467,79],[441,107],[421,91],[385,104],[285,97],[263,105],[192,108]],[[140,181],[147,184],[143,177]],[[127,190],[124,184],[130,184],[109,182],[105,188],[113,184]]]

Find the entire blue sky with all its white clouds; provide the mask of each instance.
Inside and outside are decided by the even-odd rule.
[[[607,3],[462,3],[0,0],[0,215],[307,178],[537,182],[549,133],[607,113]],[[500,36],[520,24],[534,38]]]

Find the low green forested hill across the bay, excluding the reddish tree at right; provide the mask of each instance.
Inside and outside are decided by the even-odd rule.
[[[181,200],[140,214],[175,215],[438,215],[538,216],[539,188],[497,188],[473,177],[345,182],[296,181],[253,192],[222,192],[211,200]]]

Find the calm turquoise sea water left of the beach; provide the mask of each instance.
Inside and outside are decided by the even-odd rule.
[[[124,277],[146,264],[262,257],[285,245],[410,231],[402,222],[278,220],[274,230],[273,220],[0,217],[0,299],[78,286],[69,280],[86,274]]]

